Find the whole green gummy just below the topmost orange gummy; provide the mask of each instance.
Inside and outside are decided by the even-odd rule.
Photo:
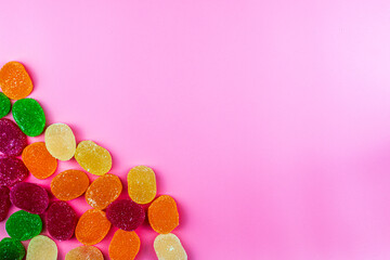
[[[36,100],[22,99],[16,101],[12,107],[12,116],[28,136],[37,136],[42,133],[46,117],[42,107]]]

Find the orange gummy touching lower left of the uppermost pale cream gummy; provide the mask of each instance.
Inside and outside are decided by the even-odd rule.
[[[56,159],[48,152],[43,142],[27,145],[22,153],[22,159],[27,169],[37,179],[51,177],[56,167]]]

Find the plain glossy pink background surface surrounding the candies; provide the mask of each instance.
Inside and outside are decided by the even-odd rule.
[[[108,148],[125,185],[155,169],[190,259],[390,258],[388,0],[0,8],[0,63],[23,62],[48,121]]]

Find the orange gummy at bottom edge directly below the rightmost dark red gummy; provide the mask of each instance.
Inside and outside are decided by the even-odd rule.
[[[133,231],[118,230],[108,247],[109,259],[133,260],[140,251],[141,240]]]

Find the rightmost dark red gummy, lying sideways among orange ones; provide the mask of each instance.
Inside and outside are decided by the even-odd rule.
[[[116,227],[133,231],[144,222],[145,211],[133,200],[118,199],[107,207],[106,217]]]

